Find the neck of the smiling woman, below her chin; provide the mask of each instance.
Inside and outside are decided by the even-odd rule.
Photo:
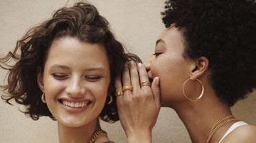
[[[88,125],[69,127],[58,122],[58,134],[60,143],[86,143],[90,137],[101,127],[96,119]]]

